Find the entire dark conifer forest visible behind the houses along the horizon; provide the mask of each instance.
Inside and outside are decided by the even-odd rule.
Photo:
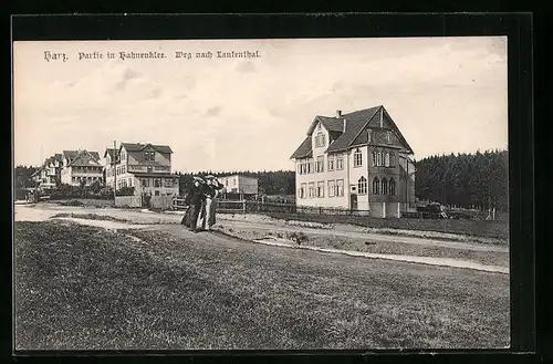
[[[495,207],[508,209],[509,154],[508,150],[487,150],[476,154],[450,154],[430,156],[417,160],[415,173],[416,196],[421,200],[444,205]],[[18,166],[14,170],[15,190],[34,187],[32,174],[36,167]],[[212,173],[177,173],[180,176],[180,191],[191,184],[192,176],[217,177],[240,174],[258,178],[261,195],[294,195],[295,173],[293,170],[250,171],[233,170]]]

